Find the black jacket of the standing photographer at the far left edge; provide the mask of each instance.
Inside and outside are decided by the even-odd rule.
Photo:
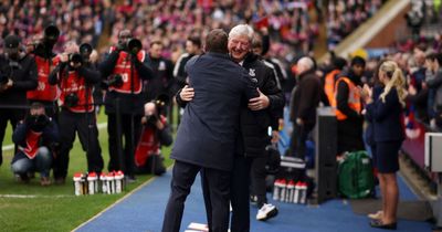
[[[0,75],[12,80],[13,85],[6,92],[0,93],[0,105],[25,106],[27,91],[34,89],[38,85],[38,73],[35,60],[25,55],[18,61],[19,68],[10,66],[10,60],[0,55]]]

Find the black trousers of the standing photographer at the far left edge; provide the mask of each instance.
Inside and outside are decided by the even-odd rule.
[[[1,147],[3,146],[8,120],[12,125],[12,130],[14,130],[17,124],[24,118],[25,114],[27,109],[0,108],[0,166],[3,162],[3,151]]]

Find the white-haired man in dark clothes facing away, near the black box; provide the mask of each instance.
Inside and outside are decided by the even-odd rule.
[[[296,64],[298,84],[293,97],[291,114],[295,122],[292,134],[292,155],[305,158],[305,141],[316,124],[316,107],[320,99],[320,80],[315,74],[315,63],[308,56],[301,57]]]

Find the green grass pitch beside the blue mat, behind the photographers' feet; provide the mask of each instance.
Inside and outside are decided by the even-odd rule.
[[[98,122],[105,120],[105,116],[98,117]],[[4,141],[3,145],[8,145]],[[99,130],[99,144],[106,168],[106,128]],[[170,166],[170,147],[164,148],[162,154],[166,157],[165,165]],[[3,165],[0,167],[0,231],[72,231],[152,177],[137,176],[137,182],[127,184],[125,192],[120,194],[75,197],[72,175],[85,172],[87,169],[85,152],[78,140],[75,140],[70,152],[69,176],[63,186],[41,187],[39,173],[35,173],[35,179],[30,183],[18,182],[10,170],[12,155],[12,150],[3,151]],[[27,198],[21,198],[22,196]]]

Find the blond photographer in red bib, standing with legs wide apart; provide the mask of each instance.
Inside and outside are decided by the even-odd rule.
[[[101,172],[103,169],[102,148],[92,95],[94,84],[101,81],[99,72],[90,63],[92,46],[78,45],[70,41],[60,55],[61,63],[49,77],[51,85],[61,89],[61,113],[59,117],[61,145],[54,160],[55,183],[64,183],[69,167],[69,152],[78,134],[83,150],[86,151],[87,170]]]

